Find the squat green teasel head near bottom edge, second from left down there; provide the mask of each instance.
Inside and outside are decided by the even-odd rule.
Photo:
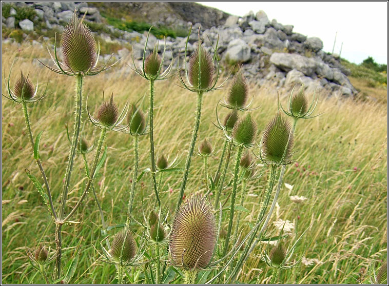
[[[121,230],[113,237],[110,254],[116,261],[121,260],[122,248],[123,262],[131,261],[137,253],[137,243],[135,243],[130,230]]]

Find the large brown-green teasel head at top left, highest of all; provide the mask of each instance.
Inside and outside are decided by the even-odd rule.
[[[92,31],[74,11],[61,38],[64,63],[73,72],[86,72],[96,63],[96,42]]]

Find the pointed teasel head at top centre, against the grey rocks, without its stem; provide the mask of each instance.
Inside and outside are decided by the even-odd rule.
[[[199,78],[200,68],[200,78]],[[212,63],[211,55],[205,51],[201,42],[195,53],[193,53],[189,59],[189,83],[196,89],[205,90],[212,84],[213,75],[215,74],[215,66]]]

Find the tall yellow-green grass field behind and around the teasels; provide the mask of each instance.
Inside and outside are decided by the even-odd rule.
[[[36,83],[39,74],[44,82],[49,76],[47,97],[30,107],[32,132],[44,130],[41,139],[43,167],[53,190],[55,206],[59,206],[64,170],[69,152],[65,125],[73,121],[74,78],[49,72],[33,58],[48,57],[41,47],[23,44],[3,45],[3,67],[6,75],[13,58],[17,61],[11,75],[11,87],[20,74],[30,72]],[[127,61],[128,62],[128,61]],[[196,94],[178,86],[174,77],[159,81],[155,85],[154,139],[155,153],[174,158],[178,156],[178,167],[183,167],[188,149],[196,109]],[[228,83],[227,83],[228,87]],[[5,83],[2,89],[5,93]],[[42,86],[43,88],[43,86]],[[89,95],[88,106],[95,112],[106,96],[113,92],[115,101],[123,108],[126,101],[139,99],[148,91],[146,80],[136,76],[126,61],[112,69],[85,80],[84,94]],[[216,121],[215,107],[226,94],[226,89],[213,91],[204,96],[202,121],[198,142],[209,138],[216,150],[211,157],[209,170],[216,172],[218,158],[223,146],[220,130],[213,126]],[[374,94],[374,90],[372,91]],[[262,132],[269,119],[277,111],[277,90],[250,85],[254,96],[252,116]],[[311,96],[311,95],[309,95]],[[147,97],[146,97],[147,98]],[[286,103],[286,94],[282,94]],[[147,109],[145,100],[145,110]],[[301,256],[313,260],[311,265],[300,263],[298,267],[281,272],[280,283],[358,283],[369,282],[370,266],[376,269],[387,256],[387,109],[382,101],[357,102],[353,99],[320,97],[316,113],[323,113],[297,124],[294,159],[298,164],[286,168],[284,182],[292,190],[282,188],[269,223],[269,233],[278,233],[273,222],[279,219],[294,223],[295,229],[285,239],[286,245],[293,242],[296,232],[300,235],[308,229],[298,244],[291,261]],[[226,110],[220,109],[222,117]],[[86,118],[84,112],[84,120]],[[26,248],[45,242],[55,250],[54,224],[42,198],[38,195],[24,173],[25,168],[38,178],[20,105],[2,100],[2,282],[42,283],[40,274],[32,268],[26,256]],[[85,136],[92,142],[99,130],[90,122],[85,124]],[[260,135],[261,136],[261,135]],[[259,141],[258,137],[257,141]],[[96,178],[96,192],[102,203],[109,226],[126,221],[126,206],[129,196],[131,167],[133,165],[132,138],[127,134],[109,132],[106,145],[108,155]],[[197,147],[196,147],[197,149]],[[140,140],[140,169],[149,166],[149,141],[147,136]],[[235,150],[234,150],[235,153]],[[93,153],[88,154],[92,160]],[[260,163],[258,161],[258,163]],[[228,180],[232,177],[232,165]],[[259,167],[264,175],[247,185],[244,207],[250,213],[242,213],[241,225],[244,233],[249,223],[254,223],[263,200],[266,185],[265,167]],[[261,169],[262,168],[262,169]],[[165,209],[174,210],[180,188],[180,173],[168,173],[163,178],[161,200]],[[204,165],[199,156],[194,156],[185,195],[204,192]],[[75,160],[75,168],[68,197],[68,206],[73,206],[82,192],[85,171],[82,157]],[[228,199],[231,188],[222,194],[222,202]],[[143,206],[149,210],[154,204],[151,177],[145,175],[138,185],[134,198],[135,216],[142,216]],[[289,196],[304,196],[302,203],[291,201]],[[215,194],[211,195],[214,201]],[[238,199],[240,195],[238,193]],[[223,227],[227,226],[228,211],[225,211]],[[101,233],[99,211],[91,194],[88,194],[75,216],[80,224],[63,227],[63,261],[72,255],[77,242],[82,239],[82,254],[71,282],[73,283],[116,283],[115,267],[100,261]],[[139,230],[141,233],[142,230]],[[114,230],[109,232],[112,235]],[[266,283],[271,269],[260,260],[264,244],[251,253],[238,276],[243,283]],[[306,260],[304,260],[306,261]],[[53,270],[53,263],[49,269]],[[144,283],[143,268],[133,270],[137,279],[131,282]],[[138,275],[138,276],[137,276]],[[134,277],[134,276],[132,276]],[[175,278],[179,276],[176,275]],[[211,276],[209,276],[211,277]],[[182,282],[173,279],[172,283]]]

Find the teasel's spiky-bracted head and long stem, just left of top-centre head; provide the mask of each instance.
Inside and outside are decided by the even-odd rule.
[[[151,164],[151,176],[152,176],[152,183],[153,183],[153,189],[155,192],[155,197],[157,198],[158,205],[161,206],[161,200],[159,197],[158,192],[158,186],[157,186],[157,178],[156,178],[156,165],[155,165],[155,155],[154,155],[154,83],[156,80],[164,80],[167,78],[172,77],[174,74],[171,73],[171,69],[173,66],[173,57],[171,58],[170,65],[163,70],[164,66],[164,59],[165,59],[165,51],[166,51],[166,45],[164,45],[162,58],[158,54],[158,43],[154,46],[153,51],[146,57],[146,50],[147,50],[147,43],[150,35],[150,31],[152,29],[152,26],[150,27],[145,48],[143,49],[143,57],[142,57],[142,67],[137,68],[137,65],[135,65],[134,58],[132,57],[132,64],[133,64],[133,71],[137,73],[138,75],[142,76],[146,80],[149,81],[149,87],[150,87],[150,108],[149,108],[149,137],[150,137],[150,164]],[[165,40],[166,44],[166,40]]]

